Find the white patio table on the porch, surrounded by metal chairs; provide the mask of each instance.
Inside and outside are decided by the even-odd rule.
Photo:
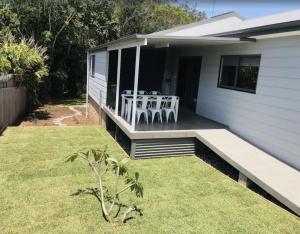
[[[156,97],[162,97],[162,103],[170,103],[171,102],[171,98],[172,97],[177,97],[177,96],[172,96],[172,95],[137,95],[137,103],[139,102],[139,99],[147,96],[151,99],[151,102],[155,102],[155,98]],[[130,122],[131,119],[131,114],[132,114],[132,106],[133,106],[133,95],[130,94],[121,94],[121,98],[122,98],[122,103],[121,103],[121,116],[125,117],[125,105],[127,103],[128,105],[128,114],[126,117],[126,121]],[[179,109],[179,101],[176,102],[175,105],[175,119],[177,120],[178,118],[178,109]]]

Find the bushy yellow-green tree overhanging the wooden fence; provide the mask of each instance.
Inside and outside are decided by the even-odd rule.
[[[46,50],[37,46],[32,38],[22,39],[20,43],[10,38],[0,46],[0,71],[14,74],[17,84],[27,88],[28,103],[31,107],[39,103],[39,85],[43,77],[48,75],[45,52]]]

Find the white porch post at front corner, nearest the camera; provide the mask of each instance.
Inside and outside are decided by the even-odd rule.
[[[132,107],[132,120],[131,120],[131,126],[132,126],[133,130],[135,129],[136,99],[137,99],[137,90],[138,90],[138,85],[139,85],[140,51],[141,51],[141,46],[138,45],[136,47],[136,55],[135,55],[133,107]]]

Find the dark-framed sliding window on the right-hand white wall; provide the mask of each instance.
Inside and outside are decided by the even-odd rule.
[[[218,87],[255,93],[260,55],[222,56]]]

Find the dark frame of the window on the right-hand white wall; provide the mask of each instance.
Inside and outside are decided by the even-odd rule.
[[[234,77],[234,86],[221,85],[222,73],[223,73],[223,61],[224,61],[224,58],[230,58],[230,57],[238,57],[238,65],[237,65],[237,69],[236,69],[235,77]],[[256,80],[254,90],[236,87],[237,80],[238,80],[238,74],[239,74],[239,68],[240,68],[240,60],[243,57],[246,57],[246,58],[259,57],[258,74],[257,74],[257,80]],[[256,88],[257,88],[257,82],[258,82],[259,70],[260,70],[260,63],[261,63],[261,54],[221,55],[220,67],[219,67],[219,77],[218,77],[218,86],[217,87],[222,88],[222,89],[230,89],[230,90],[235,90],[235,91],[240,91],[240,92],[256,94]]]

